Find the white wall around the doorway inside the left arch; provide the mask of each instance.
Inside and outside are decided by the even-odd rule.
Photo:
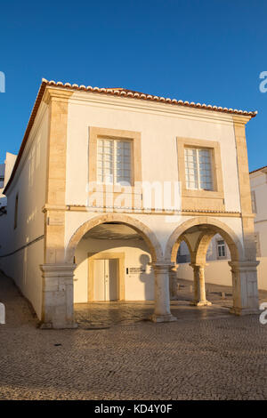
[[[86,302],[88,295],[88,253],[125,253],[125,300],[154,300],[154,274],[148,263],[151,261],[149,249],[144,241],[103,240],[87,238],[77,245],[75,258],[77,269],[74,278],[74,301]],[[142,274],[126,274],[126,268],[145,267]],[[89,277],[90,280],[90,277]]]

